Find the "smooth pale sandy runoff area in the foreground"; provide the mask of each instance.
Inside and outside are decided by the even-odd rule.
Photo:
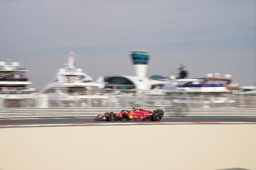
[[[256,125],[0,129],[0,170],[256,170]]]

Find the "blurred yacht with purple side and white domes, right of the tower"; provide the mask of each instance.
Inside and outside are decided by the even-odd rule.
[[[197,103],[202,107],[233,107],[235,100],[230,98],[229,94],[233,91],[240,91],[241,87],[237,84],[231,84],[230,74],[226,74],[224,78],[220,73],[207,74],[206,78],[189,79],[188,71],[184,70],[186,66],[180,64],[177,76],[169,76],[169,83],[164,85],[164,91],[171,91],[177,95],[183,96],[173,100],[173,104],[177,106],[191,106],[191,103]],[[196,99],[196,95],[202,95],[203,98]]]

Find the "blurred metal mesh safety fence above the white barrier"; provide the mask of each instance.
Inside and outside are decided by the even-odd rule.
[[[256,95],[158,90],[1,88],[0,108],[256,108]]]

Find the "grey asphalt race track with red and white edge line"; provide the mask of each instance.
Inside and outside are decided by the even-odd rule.
[[[90,126],[90,125],[108,125],[111,123],[119,125],[129,124],[186,124],[186,123],[203,123],[203,124],[219,124],[219,123],[256,123],[256,117],[164,117],[160,122],[152,121],[94,121],[94,118],[28,118],[28,119],[0,119],[0,128],[17,128],[31,127],[31,125],[45,126]],[[27,125],[27,126],[19,126]],[[30,126],[29,126],[30,125]]]

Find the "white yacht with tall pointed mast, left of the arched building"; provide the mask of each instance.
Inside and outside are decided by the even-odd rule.
[[[56,70],[54,79],[43,89],[43,93],[48,94],[48,100],[51,101],[49,107],[92,107],[108,98],[99,90],[104,88],[104,79],[96,82],[81,68],[75,68],[73,51],[65,65],[67,67]]]

